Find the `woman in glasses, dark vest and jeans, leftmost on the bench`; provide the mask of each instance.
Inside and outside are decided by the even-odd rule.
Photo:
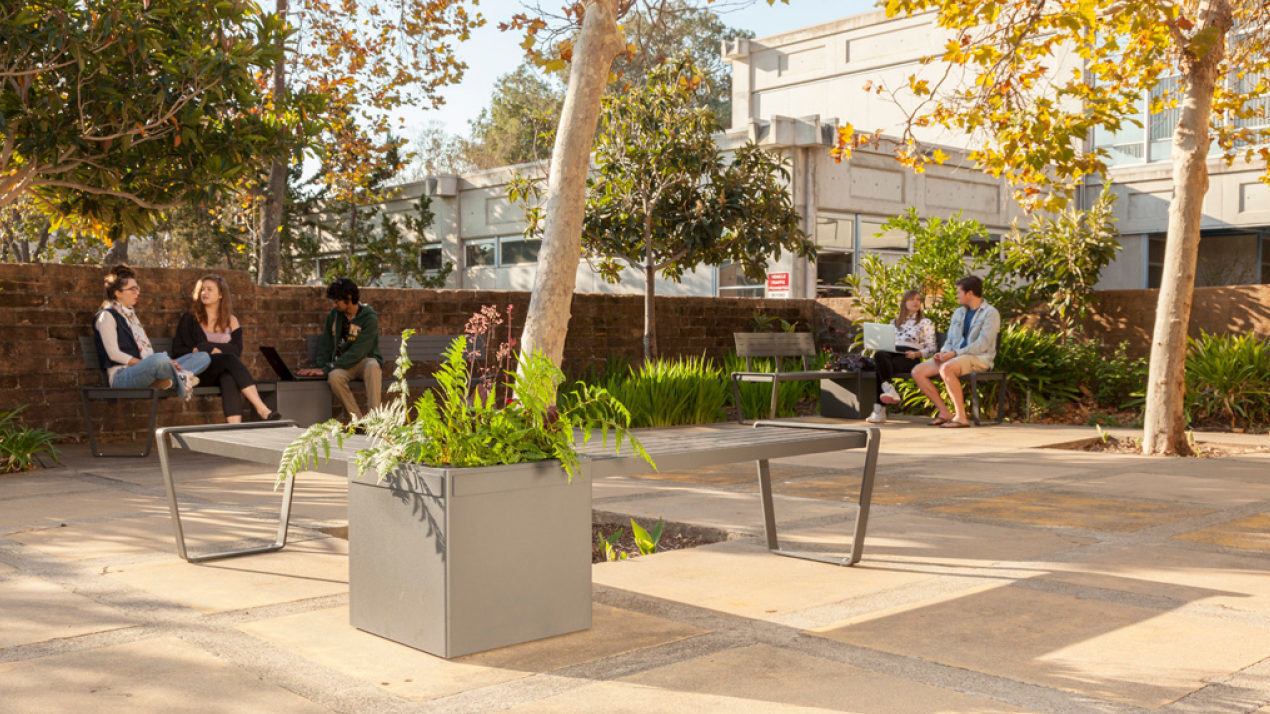
[[[173,360],[155,352],[137,318],[141,285],[128,266],[116,266],[105,274],[105,302],[93,319],[98,362],[105,366],[110,386],[117,389],[171,389],[189,399],[198,375],[211,363],[207,354]]]

